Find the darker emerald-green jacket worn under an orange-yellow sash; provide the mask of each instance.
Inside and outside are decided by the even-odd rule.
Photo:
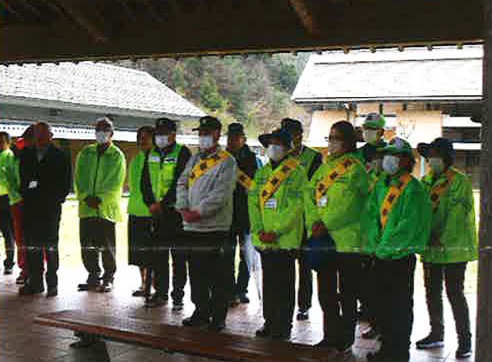
[[[387,191],[399,182],[399,174],[382,176],[375,184],[362,212],[362,251],[380,259],[400,259],[422,253],[430,234],[430,201],[423,185],[411,178],[393,203],[381,229],[380,210]]]

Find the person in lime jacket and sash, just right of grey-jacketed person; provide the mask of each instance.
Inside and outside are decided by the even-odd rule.
[[[256,171],[248,193],[252,244],[263,268],[264,325],[257,336],[288,339],[295,300],[294,262],[303,232],[306,172],[289,155],[291,136],[284,129],[259,136],[270,162]]]

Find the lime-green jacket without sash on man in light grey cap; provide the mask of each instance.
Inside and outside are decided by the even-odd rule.
[[[74,189],[78,199],[78,216],[100,217],[112,222],[121,221],[121,187],[125,177],[126,161],[123,152],[114,144],[102,153],[97,144],[83,148],[75,161]],[[98,197],[97,209],[90,208],[86,197]]]

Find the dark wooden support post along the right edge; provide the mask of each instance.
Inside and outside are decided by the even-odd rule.
[[[483,116],[480,155],[480,230],[475,362],[492,360],[492,4],[483,0]]]

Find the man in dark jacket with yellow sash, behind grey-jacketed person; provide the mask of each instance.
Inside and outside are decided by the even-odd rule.
[[[231,225],[231,249],[226,260],[231,268],[232,304],[249,303],[247,285],[249,283],[249,265],[246,240],[249,234],[249,217],[247,214],[247,192],[257,169],[256,156],[244,144],[244,130],[240,123],[231,123],[227,129],[227,151],[234,156],[237,166],[237,182],[234,189],[233,213]],[[235,278],[235,248],[239,240],[239,271]]]

